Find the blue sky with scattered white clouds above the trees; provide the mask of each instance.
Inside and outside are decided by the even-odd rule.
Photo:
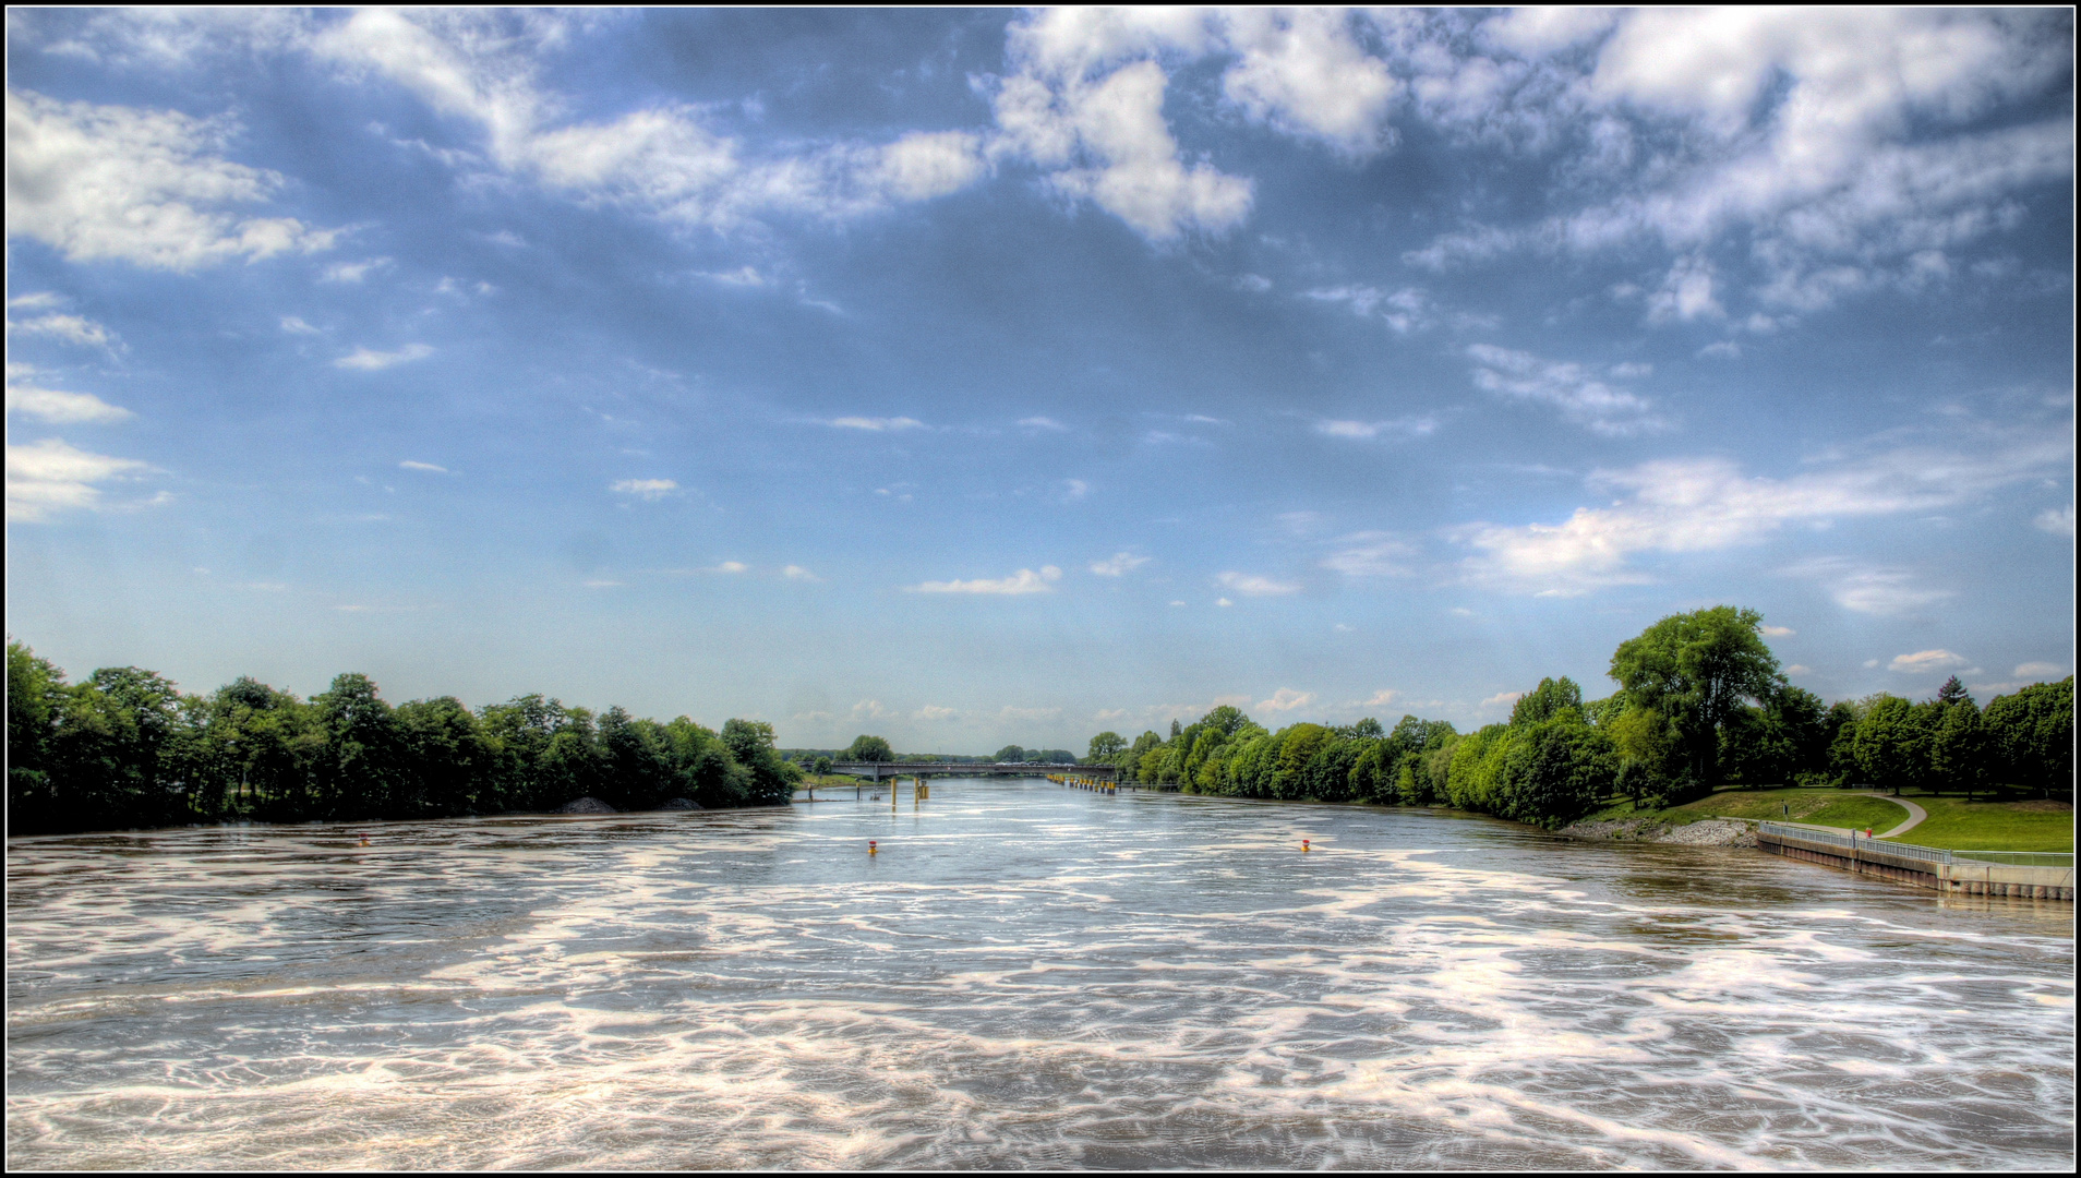
[[[785,747],[2073,672],[2069,10],[10,8],[6,631]]]

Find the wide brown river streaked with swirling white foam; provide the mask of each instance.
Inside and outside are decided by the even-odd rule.
[[[2073,905],[1421,810],[839,797],[15,839],[8,1161],[2075,1161]]]

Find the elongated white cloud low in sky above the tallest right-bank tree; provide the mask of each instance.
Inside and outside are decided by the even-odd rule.
[[[1640,554],[1717,552],[1758,543],[1785,524],[1923,512],[2066,464],[2062,437],[2008,435],[1981,454],[1902,447],[1790,479],[1752,479],[1725,458],[1675,458],[1629,470],[1598,470],[1590,487],[1623,495],[1609,508],[1577,508],[1561,524],[1469,524],[1457,539],[1482,552],[1473,581],[1582,593],[1646,581]],[[1898,612],[1946,593],[1919,591],[1894,570],[1808,564],[1838,585],[1838,601]]]

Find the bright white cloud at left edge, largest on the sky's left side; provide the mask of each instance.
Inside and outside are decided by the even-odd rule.
[[[225,119],[8,89],[6,235],[33,237],[75,262],[166,271],[329,248],[337,231],[223,210],[266,200],[281,185],[281,175],[219,154],[231,133]]]

